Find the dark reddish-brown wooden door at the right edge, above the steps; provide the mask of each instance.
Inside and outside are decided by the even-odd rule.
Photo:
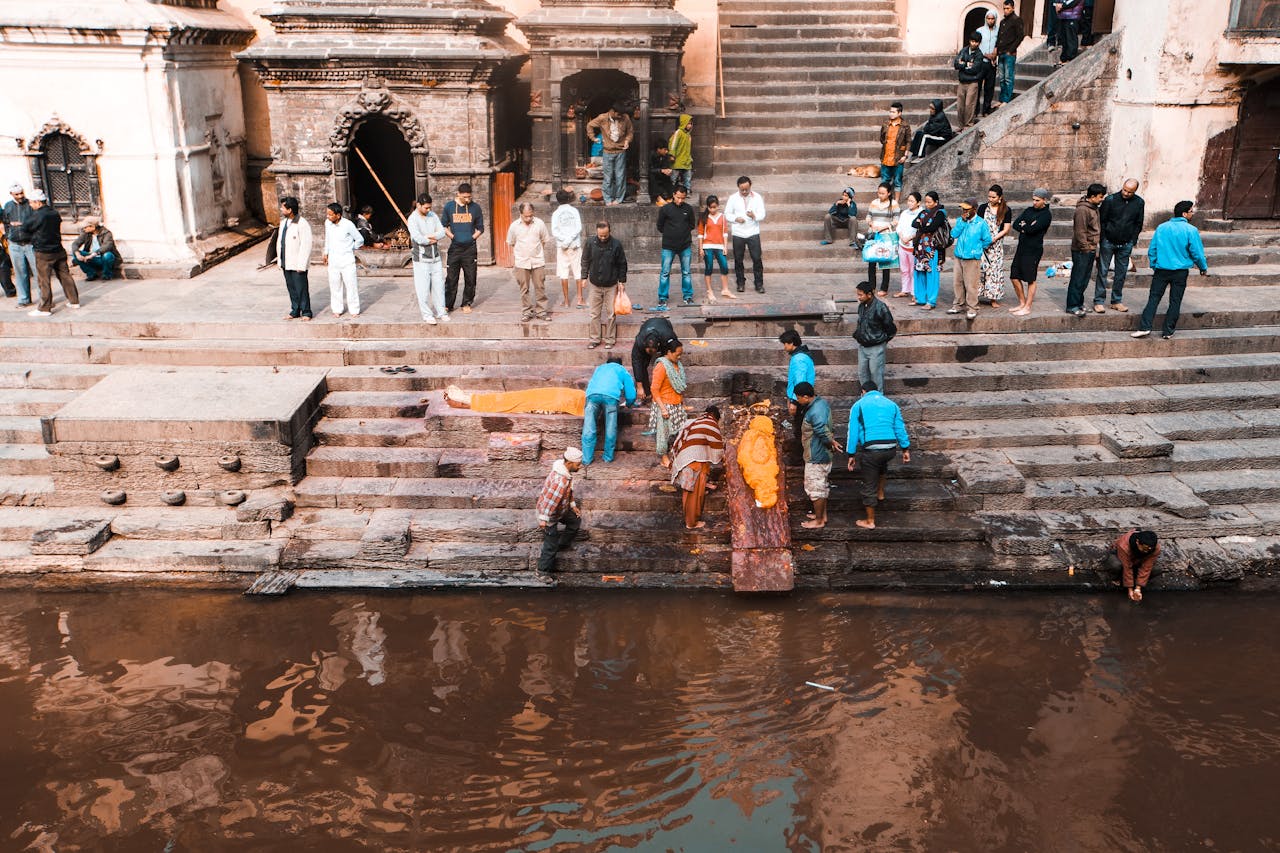
[[[1280,79],[1249,90],[1240,106],[1235,156],[1226,179],[1226,215],[1280,218]]]

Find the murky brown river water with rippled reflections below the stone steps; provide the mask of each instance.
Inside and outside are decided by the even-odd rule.
[[[1277,603],[6,592],[0,849],[1280,849]]]

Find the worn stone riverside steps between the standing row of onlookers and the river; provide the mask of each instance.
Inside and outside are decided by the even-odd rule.
[[[356,321],[325,310],[311,324],[284,323],[275,277],[242,272],[186,291],[97,287],[74,316],[0,320],[0,581],[728,587],[723,493],[708,502],[707,529],[684,529],[653,439],[640,435],[645,412],[625,411],[617,460],[580,476],[585,534],[547,578],[534,571],[531,507],[580,420],[442,403],[451,383],[585,386],[605,353],[585,348],[580,311],[520,324],[506,273],[489,272],[489,307],[448,327],[415,323],[411,302],[381,280]],[[796,328],[842,434],[856,380],[854,305],[778,279],[732,310],[672,313],[687,343],[687,402],[780,398],[777,334]],[[1056,283],[1030,318],[989,311],[972,327],[901,302],[890,301],[901,334],[887,391],[908,418],[913,461],[892,469],[876,530],[854,526],[856,483],[838,464],[832,521],[806,530],[792,453],[797,587],[1097,589],[1097,558],[1135,525],[1165,538],[1157,588],[1280,585],[1280,302],[1270,288],[1192,288],[1172,341],[1129,338],[1133,314],[1068,316]],[[625,360],[643,319],[621,325]],[[413,371],[383,370],[399,365]],[[177,384],[111,418],[113,383],[138,371]],[[271,411],[251,411],[253,401]],[[184,421],[209,428],[183,434]],[[81,433],[61,432],[77,423]],[[266,434],[214,426],[228,423],[274,424],[271,452],[237,448]],[[63,439],[82,444],[82,474],[91,451],[108,455],[102,444],[115,442],[118,473],[95,469],[77,488],[64,479]],[[216,466],[233,452],[239,471]],[[155,464],[170,455],[191,465]],[[188,479],[174,487],[177,478]],[[106,491],[125,500],[109,505]],[[168,505],[172,491],[188,500]],[[228,491],[243,501],[220,501]]]

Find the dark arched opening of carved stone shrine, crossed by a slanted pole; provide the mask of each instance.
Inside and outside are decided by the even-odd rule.
[[[370,205],[374,209],[375,231],[389,233],[401,228],[401,215],[410,214],[417,195],[413,186],[413,151],[408,141],[393,122],[381,115],[371,115],[356,129],[351,142],[365,155],[396,200],[393,209],[364,160],[351,151],[347,163],[352,211],[358,213],[361,207]]]

